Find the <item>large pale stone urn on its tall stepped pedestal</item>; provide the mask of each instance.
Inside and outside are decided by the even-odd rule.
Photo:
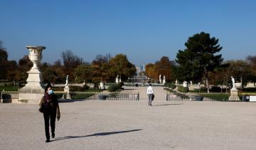
[[[27,46],[29,50],[28,57],[33,62],[33,67],[28,71],[28,79],[26,85],[18,89],[18,103],[40,103],[44,94],[42,86],[42,75],[38,69],[38,64],[42,59],[42,51],[46,49],[43,46]]]

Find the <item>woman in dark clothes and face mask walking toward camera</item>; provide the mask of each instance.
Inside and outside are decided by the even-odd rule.
[[[45,131],[46,131],[46,142],[50,142],[50,133],[49,133],[49,120],[50,120],[50,129],[51,137],[55,137],[55,119],[60,120],[60,108],[58,105],[58,98],[53,93],[53,90],[48,84],[45,88],[44,96],[41,98],[39,105],[44,105],[45,109],[43,111],[43,118],[45,122]]]

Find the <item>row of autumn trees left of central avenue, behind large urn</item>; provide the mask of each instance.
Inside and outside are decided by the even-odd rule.
[[[117,54],[111,57],[110,54],[97,55],[91,62],[84,62],[82,58],[66,50],[61,53],[61,58],[53,64],[43,62],[39,68],[43,74],[45,83],[65,83],[65,76],[69,75],[71,82],[92,82],[114,81],[115,76],[119,75],[122,79],[136,74],[134,64],[129,62],[124,54]],[[28,56],[19,59],[18,62],[8,60],[8,53],[0,42],[0,80],[18,81],[25,83],[28,77],[26,73],[33,66]]]

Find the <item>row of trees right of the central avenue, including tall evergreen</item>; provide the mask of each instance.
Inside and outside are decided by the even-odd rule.
[[[256,56],[245,60],[223,61],[219,54],[223,47],[218,39],[210,37],[208,33],[198,33],[188,37],[184,50],[178,50],[175,61],[162,57],[155,64],[146,65],[146,76],[158,79],[159,74],[166,75],[166,79],[174,81],[205,81],[210,84],[228,85],[230,76],[242,82],[256,81]]]

